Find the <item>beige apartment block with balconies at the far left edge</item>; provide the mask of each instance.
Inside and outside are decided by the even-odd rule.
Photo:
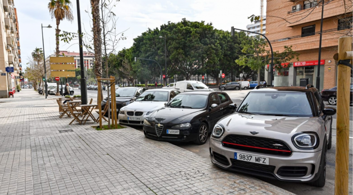
[[[0,98],[15,93],[22,70],[17,12],[13,0],[0,0]]]

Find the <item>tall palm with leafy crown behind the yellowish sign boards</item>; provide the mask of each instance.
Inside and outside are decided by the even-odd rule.
[[[56,29],[55,29],[55,37],[56,37],[56,50],[55,50],[55,55],[59,56],[60,51],[59,51],[59,24],[61,20],[68,20],[68,21],[73,21],[74,16],[71,8],[69,6],[72,6],[70,0],[49,0],[48,4],[48,9],[50,12],[50,15],[56,20]],[[59,92],[59,81],[56,82],[56,96],[60,95]]]

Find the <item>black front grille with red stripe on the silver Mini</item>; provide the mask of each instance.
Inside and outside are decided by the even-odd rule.
[[[254,151],[276,155],[292,154],[291,148],[284,141],[255,136],[228,135],[223,139],[222,144],[225,147],[241,149],[245,151]]]

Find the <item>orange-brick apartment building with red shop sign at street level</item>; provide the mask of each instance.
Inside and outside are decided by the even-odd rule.
[[[320,90],[337,84],[337,66],[333,55],[338,52],[338,38],[352,35],[352,3],[325,1],[320,62]],[[275,86],[299,86],[300,79],[309,79],[316,86],[319,67],[319,40],[322,2],[316,0],[267,0],[266,36],[273,51],[282,52],[292,46],[299,53],[290,68],[274,72]],[[265,67],[267,79],[268,66]]]

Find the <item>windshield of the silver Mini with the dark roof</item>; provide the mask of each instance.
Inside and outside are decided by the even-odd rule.
[[[260,115],[311,117],[313,112],[307,96],[304,92],[250,92],[237,111]]]

